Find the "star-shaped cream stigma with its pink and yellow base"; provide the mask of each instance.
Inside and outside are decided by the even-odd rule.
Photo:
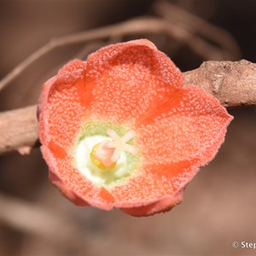
[[[132,155],[137,154],[137,149],[128,144],[131,138],[135,137],[135,131],[128,131],[123,137],[119,137],[115,131],[108,129],[107,134],[112,141],[97,143],[90,152],[90,160],[102,171],[112,170],[123,151]]]

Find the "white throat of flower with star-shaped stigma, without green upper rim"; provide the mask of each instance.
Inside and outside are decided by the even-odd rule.
[[[137,148],[129,143],[136,136],[135,131],[127,131],[122,137],[111,129],[105,134],[84,137],[74,150],[79,172],[99,185],[115,183],[137,166],[137,160],[131,161],[137,158]]]

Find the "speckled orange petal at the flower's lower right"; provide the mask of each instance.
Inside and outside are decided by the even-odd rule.
[[[161,204],[160,211],[172,207],[177,202],[176,194],[195,176],[198,168],[189,161],[175,164],[144,166],[143,170],[109,192],[115,199],[114,206],[120,208],[144,207],[162,200],[170,200],[171,205]],[[173,199],[173,200],[172,200]]]

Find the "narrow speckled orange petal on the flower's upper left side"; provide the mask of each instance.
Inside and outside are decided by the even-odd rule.
[[[38,108],[40,139],[44,145],[71,148],[84,119],[84,72],[83,61],[71,61],[44,85]]]

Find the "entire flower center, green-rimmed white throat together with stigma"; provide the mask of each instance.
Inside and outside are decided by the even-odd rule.
[[[134,175],[140,165],[137,136],[127,125],[89,120],[73,147],[73,166],[90,182],[113,188]]]

